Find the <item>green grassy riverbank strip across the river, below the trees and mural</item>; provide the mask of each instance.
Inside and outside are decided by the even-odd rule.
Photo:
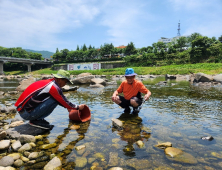
[[[130,67],[130,66],[128,66]],[[89,72],[93,75],[124,75],[127,67],[114,68],[114,69],[101,69],[101,70],[78,70],[70,71],[72,75],[78,75],[80,73]],[[183,65],[169,65],[162,67],[133,67],[134,71],[138,75],[165,75],[165,74],[180,74],[186,75],[191,73],[205,73],[208,75],[215,75],[222,73],[222,63],[197,63],[197,64],[183,64]],[[23,71],[6,71],[6,75],[43,75],[57,73],[57,70],[52,70],[51,68],[41,69],[32,71],[30,73]]]

